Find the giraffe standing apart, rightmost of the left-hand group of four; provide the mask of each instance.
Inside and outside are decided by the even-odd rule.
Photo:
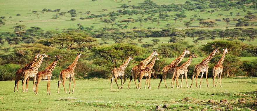
[[[78,60],[79,60],[80,56],[81,56],[81,54],[78,53],[78,54],[77,54],[77,57],[75,58],[75,60],[73,61],[73,63],[72,63],[70,66],[68,66],[67,69],[62,70],[62,71],[60,72],[60,74],[59,74],[59,81],[58,81],[58,91],[57,91],[58,94],[60,93],[60,92],[59,92],[59,88],[60,88],[61,82],[62,82],[62,86],[63,86],[63,88],[64,88],[64,91],[65,91],[65,93],[67,94],[67,92],[66,92],[66,90],[65,90],[65,87],[64,87],[64,82],[65,82],[66,78],[70,78],[69,93],[70,93],[70,84],[71,84],[71,79],[72,79],[72,81],[73,81],[72,93],[74,93],[74,88],[75,88],[75,78],[74,78],[75,72],[74,72],[74,69],[75,69],[75,67],[76,67],[76,65],[77,65],[77,63],[78,63]]]

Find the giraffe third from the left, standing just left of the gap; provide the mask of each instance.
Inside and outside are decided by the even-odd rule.
[[[51,95],[50,92],[50,81],[51,81],[51,77],[52,77],[52,71],[54,70],[55,66],[58,63],[58,60],[60,59],[60,55],[55,55],[55,60],[53,61],[53,63],[51,63],[48,67],[46,67],[45,70],[40,71],[37,73],[37,82],[36,82],[36,91],[35,94],[37,95],[37,88],[38,88],[38,84],[39,82],[44,79],[47,79],[47,95]]]

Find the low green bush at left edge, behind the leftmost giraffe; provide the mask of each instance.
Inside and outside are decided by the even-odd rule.
[[[18,69],[20,66],[16,64],[0,65],[0,81],[14,80]]]

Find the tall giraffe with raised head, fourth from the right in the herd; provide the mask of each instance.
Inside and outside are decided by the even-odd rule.
[[[176,58],[175,60],[173,60],[169,65],[166,65],[162,68],[162,77],[161,77],[161,80],[160,80],[160,83],[159,83],[159,86],[158,86],[158,89],[160,88],[160,85],[161,85],[161,82],[162,82],[162,79],[164,79],[164,84],[165,84],[165,87],[167,88],[167,84],[166,84],[166,75],[167,74],[173,74],[172,76],[172,80],[171,80],[171,88],[173,88],[174,86],[174,78],[175,78],[175,70],[176,68],[178,67],[178,64],[182,61],[182,59],[184,58],[185,54],[190,54],[190,51],[187,50],[187,48],[183,51],[183,53],[178,57]],[[173,86],[172,86],[172,83],[173,83]]]

